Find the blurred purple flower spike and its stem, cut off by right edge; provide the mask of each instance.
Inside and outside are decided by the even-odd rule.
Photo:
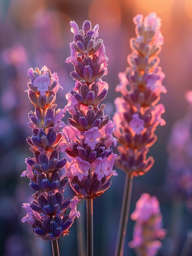
[[[192,213],[192,91],[186,92],[185,98],[188,101],[187,112],[173,124],[167,145],[168,166],[164,190],[166,196],[172,201],[173,214],[170,234],[172,234],[173,241],[180,237],[179,231],[182,227],[174,225],[174,223],[181,219],[185,205],[187,210]],[[173,209],[181,210],[174,211]],[[186,241],[187,239],[188,236]],[[185,248],[183,246],[181,254],[190,255],[191,248],[189,247],[187,250]],[[174,243],[172,254],[177,254],[177,243]]]

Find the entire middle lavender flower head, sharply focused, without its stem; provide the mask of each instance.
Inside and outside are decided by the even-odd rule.
[[[95,198],[110,187],[111,175],[117,175],[113,170],[116,155],[110,149],[112,143],[117,144],[112,135],[115,125],[104,115],[105,105],[99,106],[108,92],[108,84],[101,80],[107,74],[108,58],[103,41],[95,40],[98,25],[91,29],[86,20],[79,30],[74,21],[70,24],[74,41],[66,62],[75,67],[71,76],[76,83],[66,94],[64,111],[72,117],[68,119],[70,126],[63,128],[60,146],[73,157],[65,165],[72,189],[79,197]]]

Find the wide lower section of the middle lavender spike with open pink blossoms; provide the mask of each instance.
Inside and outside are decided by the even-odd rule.
[[[100,130],[103,130],[101,131],[102,133]],[[99,193],[103,193],[106,189],[108,189],[111,184],[108,179],[111,177],[111,175],[117,175],[117,173],[113,170],[113,164],[117,155],[113,154],[111,150],[106,148],[105,144],[101,145],[101,140],[103,139],[104,141],[107,141],[107,145],[110,147],[113,143],[113,137],[110,134],[105,134],[106,130],[108,131],[107,125],[100,130],[95,129],[93,130],[93,134],[87,134],[87,132],[89,132],[88,130],[81,135],[77,128],[65,126],[62,132],[63,139],[60,142],[60,146],[62,147],[62,150],[65,150],[69,156],[74,157],[71,164],[67,163],[65,166],[66,175],[71,180],[70,184],[73,190],[75,190],[76,193],[78,191],[81,196],[86,197],[90,193],[89,188],[86,187],[85,190],[85,185],[83,185],[85,182],[86,184],[89,184],[88,179],[90,170],[92,175],[95,177],[95,182],[98,183],[97,180],[99,181],[97,184],[97,196]],[[86,139],[92,140],[92,137],[94,138],[95,136],[95,131],[98,132],[96,137],[101,138],[98,142],[99,145],[95,143],[95,146],[93,146],[93,142],[89,142],[91,144],[88,146]],[[88,135],[90,135],[90,138]],[[91,146],[93,146],[93,150]],[[101,180],[104,184],[100,182]],[[72,182],[75,182],[75,185],[73,185]],[[92,188],[92,192],[93,191],[94,190]]]

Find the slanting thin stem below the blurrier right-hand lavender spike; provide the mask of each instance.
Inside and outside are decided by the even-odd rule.
[[[130,200],[132,193],[132,175],[126,175],[125,187],[124,187],[124,196],[121,207],[121,218],[119,221],[119,230],[117,236],[117,243],[115,248],[115,256],[123,256],[124,254],[124,243],[127,231],[127,224],[129,218],[129,209],[130,209]]]

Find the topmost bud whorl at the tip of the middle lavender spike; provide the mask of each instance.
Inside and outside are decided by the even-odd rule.
[[[108,58],[105,55],[103,40],[95,40],[99,25],[91,29],[88,20],[84,22],[82,30],[79,30],[74,21],[71,21],[70,25],[74,41],[70,44],[71,57],[67,58],[66,63],[71,62],[74,65],[75,71],[71,72],[73,79],[90,85],[107,74]]]

